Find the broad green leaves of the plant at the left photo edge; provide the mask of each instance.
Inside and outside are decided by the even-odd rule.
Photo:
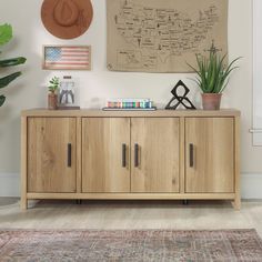
[[[12,27],[10,24],[2,24],[0,26],[0,46],[7,44],[12,39]],[[1,54],[1,52],[0,52]],[[19,57],[19,58],[12,58],[12,59],[6,59],[0,60],[0,68],[8,68],[8,67],[14,67],[22,64],[27,61],[26,58]],[[14,72],[7,77],[0,78],[0,89],[6,88],[9,83],[11,83],[13,80],[16,80],[18,77],[20,77],[21,72]],[[0,107],[4,103],[6,97],[3,94],[0,95]]]

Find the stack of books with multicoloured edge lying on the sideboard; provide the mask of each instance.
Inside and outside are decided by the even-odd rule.
[[[150,99],[109,99],[103,110],[155,110]]]

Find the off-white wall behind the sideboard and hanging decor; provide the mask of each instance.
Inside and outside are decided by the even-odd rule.
[[[229,2],[229,56],[230,59],[243,59],[240,70],[234,72],[225,90],[222,107],[242,111],[241,171],[246,178],[250,173],[262,174],[262,148],[252,147],[249,133],[252,125],[252,0]],[[1,174],[20,171],[20,111],[46,107],[47,80],[53,74],[63,74],[41,70],[43,44],[92,46],[92,71],[71,73],[79,82],[81,107],[102,107],[105,99],[112,97],[150,97],[163,107],[171,97],[170,90],[180,79],[192,87],[192,94],[196,94],[194,99],[199,105],[199,91],[189,80],[189,74],[121,73],[107,70],[105,0],[92,0],[94,19],[89,31],[70,41],[57,39],[46,31],[40,19],[41,3],[41,0],[0,1],[0,23],[11,23],[16,36],[12,43],[4,48],[4,54],[28,58],[23,77],[4,91],[8,100],[0,109],[0,178]],[[0,184],[3,184],[2,181],[4,180],[0,179]]]

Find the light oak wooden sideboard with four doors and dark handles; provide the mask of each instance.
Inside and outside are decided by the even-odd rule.
[[[27,110],[21,208],[39,199],[232,200],[238,110]]]

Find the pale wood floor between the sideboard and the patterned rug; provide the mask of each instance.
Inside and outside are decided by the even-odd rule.
[[[18,199],[0,198],[0,229],[256,229],[262,236],[262,202],[40,201],[21,211]]]

